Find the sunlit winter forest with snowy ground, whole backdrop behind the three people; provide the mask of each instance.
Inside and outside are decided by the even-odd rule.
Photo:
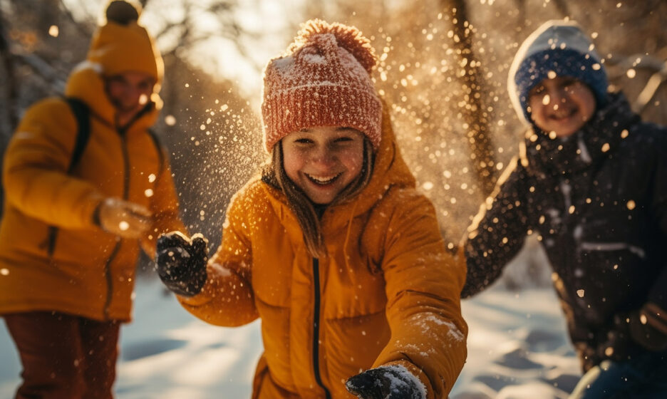
[[[420,192],[454,249],[517,155],[524,125],[507,94],[520,43],[549,19],[584,27],[611,86],[644,120],[667,124],[667,1],[141,0],[165,61],[154,129],[170,150],[182,218],[213,249],[229,199],[267,157],[262,69],[311,18],[357,26],[380,62],[373,80]],[[102,0],[0,0],[0,151],[34,101],[63,92],[86,56]],[[453,399],[567,398],[581,376],[551,271],[532,237],[493,289],[462,301],[468,358]],[[257,322],[207,325],[138,264],[133,322],[121,330],[116,394],[249,398]],[[0,279],[2,276],[0,275]],[[0,397],[20,363],[0,323]]]

